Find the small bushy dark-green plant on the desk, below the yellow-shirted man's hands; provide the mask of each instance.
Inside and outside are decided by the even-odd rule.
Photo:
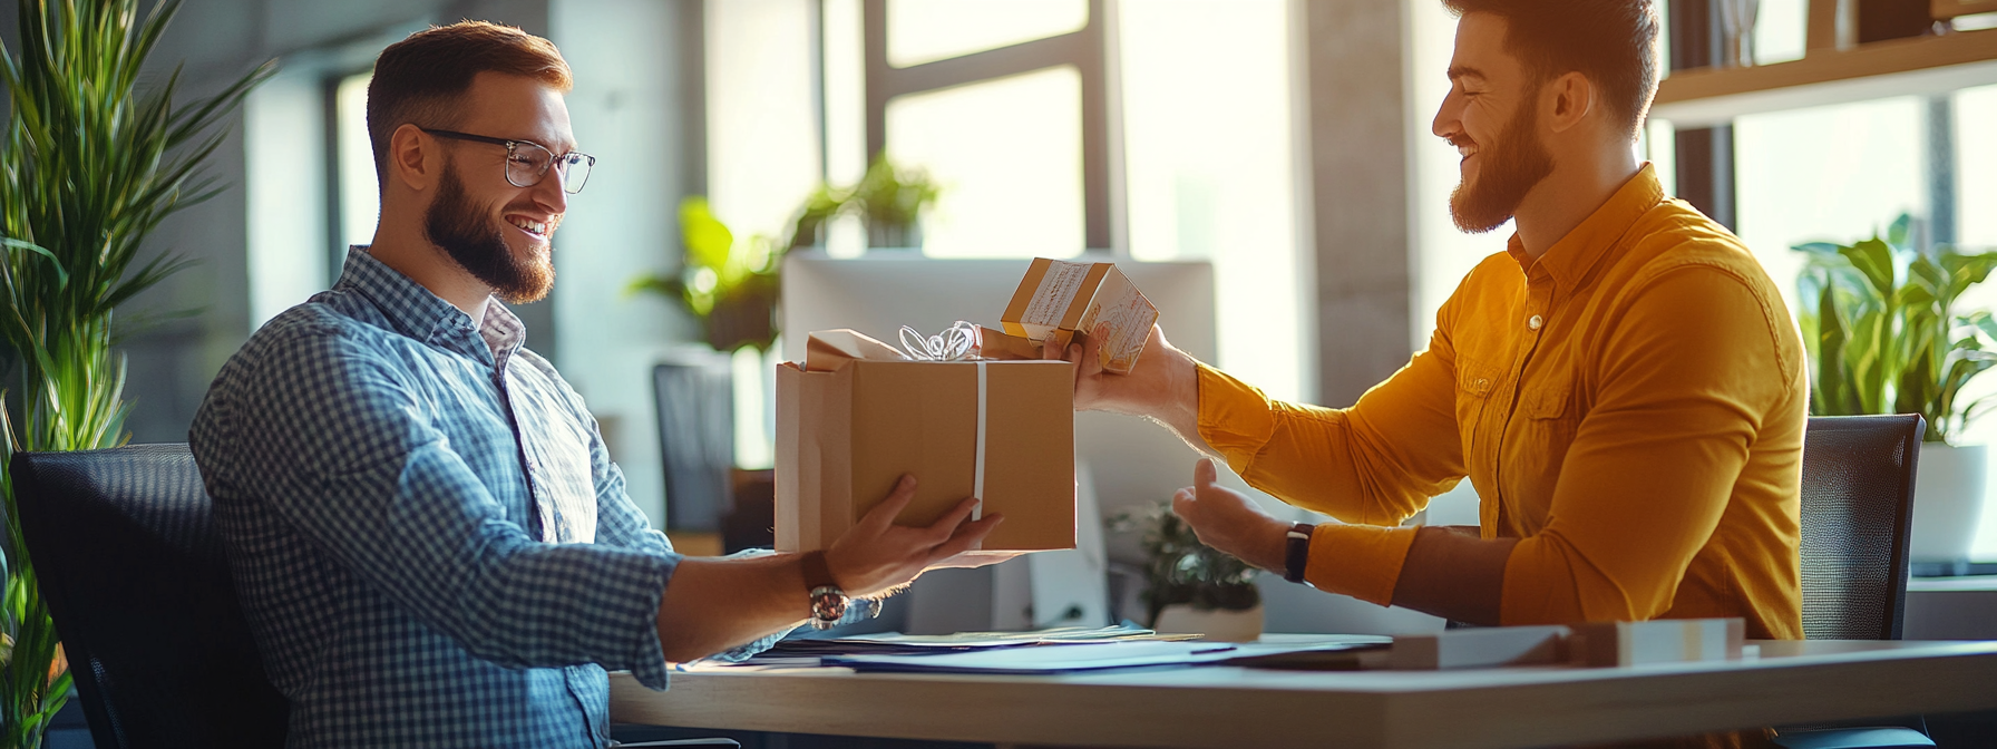
[[[1196,611],[1248,611],[1262,603],[1254,587],[1258,573],[1246,561],[1218,551],[1192,533],[1170,501],[1160,501],[1142,513],[1114,517],[1116,531],[1142,531],[1146,621],[1156,627],[1170,605]]]

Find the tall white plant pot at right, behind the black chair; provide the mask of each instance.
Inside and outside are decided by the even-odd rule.
[[[1913,475],[1913,561],[1967,561],[1983,519],[1985,445],[1921,443]]]

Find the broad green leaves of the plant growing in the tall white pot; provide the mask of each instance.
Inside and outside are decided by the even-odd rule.
[[[1997,268],[1997,252],[1917,252],[1913,218],[1849,246],[1813,242],[1799,282],[1809,350],[1809,411],[1921,413],[1927,441],[1947,443],[1981,403],[1961,389],[1997,364],[1997,320],[1957,314],[1955,300]]]

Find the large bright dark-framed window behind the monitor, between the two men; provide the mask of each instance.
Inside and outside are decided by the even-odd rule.
[[[1308,395],[1290,2],[825,0],[821,28],[825,174],[929,170],[925,256],[1210,260],[1220,364]]]

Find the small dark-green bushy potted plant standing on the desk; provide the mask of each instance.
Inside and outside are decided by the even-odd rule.
[[[1250,641],[1262,635],[1258,569],[1222,553],[1192,533],[1168,501],[1112,519],[1120,533],[1140,531],[1144,605],[1156,631],[1202,633],[1208,639]]]

